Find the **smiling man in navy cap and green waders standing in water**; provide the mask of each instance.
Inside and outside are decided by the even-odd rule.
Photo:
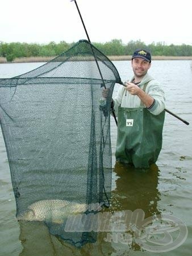
[[[162,146],[165,97],[160,84],[148,75],[151,53],[139,49],[133,53],[134,76],[121,86],[112,100],[118,116],[116,160],[149,167],[155,163]],[[105,92],[103,92],[105,94]]]

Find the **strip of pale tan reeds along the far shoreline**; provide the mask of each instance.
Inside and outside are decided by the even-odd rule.
[[[5,57],[0,57],[0,64],[3,63],[34,63],[34,62],[47,62],[54,59],[56,56],[49,57],[21,57],[15,58],[9,62]],[[107,56],[111,61],[115,60],[131,60],[131,55],[120,55],[120,56]],[[192,60],[192,56],[152,56],[153,60]]]

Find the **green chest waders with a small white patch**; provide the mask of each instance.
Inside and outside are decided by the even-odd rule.
[[[116,160],[136,168],[155,163],[162,147],[164,118],[165,111],[153,115],[142,103],[139,108],[119,106]]]

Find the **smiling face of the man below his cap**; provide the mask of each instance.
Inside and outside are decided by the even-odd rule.
[[[132,59],[131,65],[132,65],[133,73],[137,78],[144,77],[148,69],[151,67],[151,63],[149,63],[149,61],[144,60],[143,58],[140,58],[140,57],[136,57]]]

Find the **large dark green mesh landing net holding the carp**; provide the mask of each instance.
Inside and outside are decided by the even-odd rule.
[[[93,239],[64,228],[67,217],[87,213],[87,205],[108,205],[110,105],[119,81],[111,61],[86,40],[31,72],[0,80],[19,220],[45,221],[51,233],[78,245]],[[110,89],[105,102],[103,85]]]

